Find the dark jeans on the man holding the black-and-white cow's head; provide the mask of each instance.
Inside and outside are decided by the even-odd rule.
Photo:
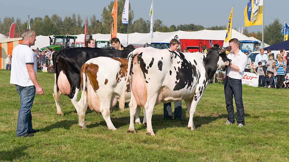
[[[228,111],[228,120],[231,123],[235,122],[234,119],[234,107],[233,107],[233,95],[235,98],[236,109],[237,109],[237,123],[245,124],[244,106],[242,99],[242,81],[238,79],[232,79],[228,76],[224,81],[224,91],[226,108]]]

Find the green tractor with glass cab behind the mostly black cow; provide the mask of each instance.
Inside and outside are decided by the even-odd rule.
[[[49,37],[50,45],[49,49],[54,48],[55,51],[59,51],[62,48],[74,48],[76,42],[76,36],[72,35],[53,35],[54,38]],[[46,47],[41,48],[41,50],[45,50]]]

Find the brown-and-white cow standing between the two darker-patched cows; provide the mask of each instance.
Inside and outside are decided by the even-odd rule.
[[[127,58],[97,57],[88,60],[81,67],[82,94],[79,100],[79,126],[85,126],[87,106],[100,112],[109,130],[116,130],[110,118],[110,109],[117,101],[119,108],[130,101],[129,78],[127,77]],[[86,87],[86,88],[84,88]],[[140,109],[139,109],[140,110]],[[140,123],[139,116],[136,120]]]

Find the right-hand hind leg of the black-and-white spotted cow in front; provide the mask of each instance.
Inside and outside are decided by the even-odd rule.
[[[158,93],[155,93],[152,97],[147,96],[148,100],[145,103],[145,114],[147,118],[147,134],[148,135],[155,135],[154,131],[152,130],[152,113],[154,111],[155,103],[158,97]]]

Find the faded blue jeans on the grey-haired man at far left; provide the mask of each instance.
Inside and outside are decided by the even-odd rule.
[[[33,131],[30,109],[32,108],[36,89],[34,85],[27,87],[15,85],[15,87],[20,97],[20,109],[16,129],[16,136],[19,137]]]

